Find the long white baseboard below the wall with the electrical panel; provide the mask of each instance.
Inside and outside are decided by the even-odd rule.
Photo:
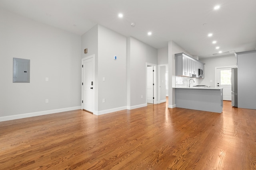
[[[54,110],[46,110],[46,111],[37,111],[37,112],[24,113],[24,114],[19,114],[19,115],[2,116],[2,117],[0,117],[0,122],[14,120],[14,119],[22,119],[22,118],[27,118],[27,117],[48,115],[48,114],[52,114],[52,113],[60,113],[60,112],[64,112],[64,111],[72,111],[72,110],[78,110],[78,109],[81,109],[81,106],[67,107],[67,108],[62,108],[62,109],[54,109]]]

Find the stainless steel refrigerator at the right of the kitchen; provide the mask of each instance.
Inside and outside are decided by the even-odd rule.
[[[237,107],[237,68],[231,68],[231,101]]]

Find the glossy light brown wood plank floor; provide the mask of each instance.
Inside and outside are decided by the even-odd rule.
[[[256,110],[82,110],[0,122],[1,170],[255,170]]]

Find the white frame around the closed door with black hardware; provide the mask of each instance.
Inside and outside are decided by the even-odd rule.
[[[96,112],[96,109],[95,109],[95,55],[90,55],[88,57],[85,57],[85,58],[82,58],[82,65],[83,65],[83,62],[87,59],[90,59],[92,58],[93,59],[93,73],[92,73],[92,76],[93,76],[93,83],[94,83],[94,90],[93,90],[93,93],[92,93],[92,108],[93,108],[93,114],[97,114]],[[81,68],[82,68],[82,65],[81,65]],[[82,101],[84,100],[84,86],[82,85],[82,82],[84,82],[84,71],[83,71],[83,68],[81,69],[81,72],[82,72],[82,78],[81,78],[81,109],[83,109],[83,103]]]

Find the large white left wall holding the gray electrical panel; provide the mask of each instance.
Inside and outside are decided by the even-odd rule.
[[[79,35],[1,9],[0,36],[1,121],[80,108]],[[30,59],[30,83],[12,83],[13,57]]]

